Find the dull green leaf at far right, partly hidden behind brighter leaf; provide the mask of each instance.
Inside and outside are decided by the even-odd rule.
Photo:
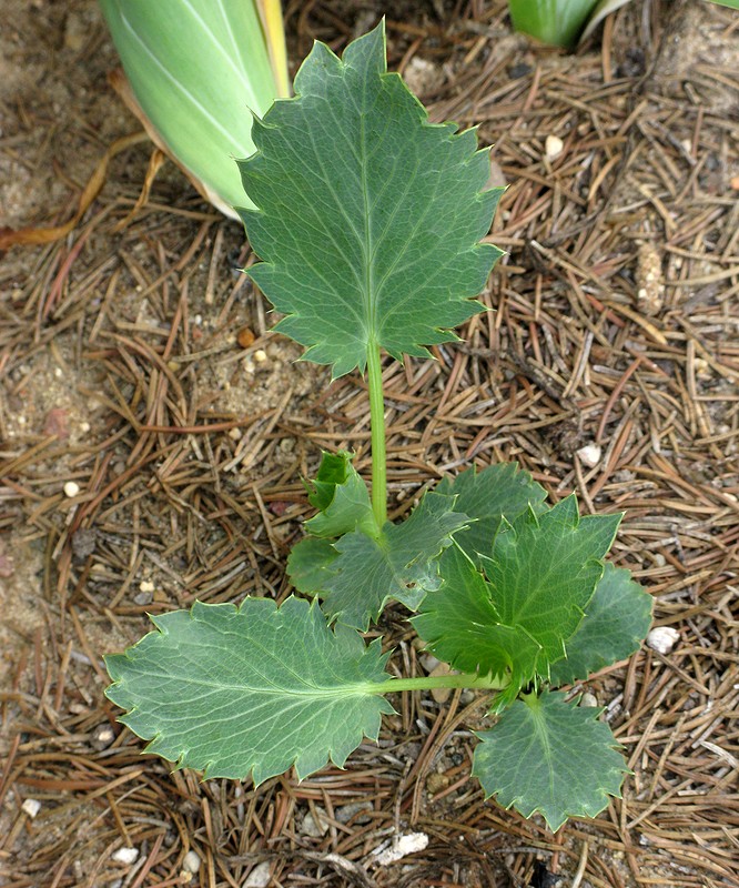
[[[606,564],[586,616],[566,643],[567,656],[551,664],[555,687],[588,677],[639,649],[651,623],[651,596],[629,571]]]

